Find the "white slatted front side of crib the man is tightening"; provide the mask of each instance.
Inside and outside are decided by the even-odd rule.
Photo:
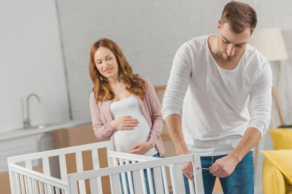
[[[114,153],[110,153],[110,154],[114,154]],[[116,156],[117,155],[118,154],[116,154]],[[127,155],[128,154],[126,154],[125,156]],[[135,159],[137,158],[141,159],[144,157],[139,157],[139,156],[135,157]],[[144,161],[144,162],[135,162],[133,160],[131,164],[119,165],[119,166],[113,166],[113,167],[108,167],[108,168],[102,168],[102,169],[97,169],[97,170],[70,174],[68,175],[69,188],[70,188],[71,194],[78,194],[76,182],[78,180],[90,179],[90,183],[92,183],[90,184],[91,193],[94,192],[96,194],[99,194],[97,192],[99,190],[98,185],[94,184],[94,182],[96,181],[96,178],[103,177],[103,176],[110,176],[112,182],[115,183],[111,185],[112,194],[121,194],[122,190],[121,190],[121,185],[119,184],[120,183],[119,174],[132,172],[133,176],[128,174],[129,175],[128,177],[133,178],[131,181],[128,181],[129,184],[131,184],[132,182],[132,185],[130,185],[131,187],[130,193],[145,194],[146,184],[145,184],[145,180],[143,180],[144,175],[142,174],[141,170],[143,171],[144,169],[153,168],[156,193],[157,194],[163,194],[164,192],[168,193],[168,190],[165,190],[167,188],[166,187],[167,185],[164,184],[164,182],[166,182],[166,176],[163,176],[163,173],[162,173],[162,167],[168,166],[171,172],[171,182],[172,182],[173,193],[184,194],[183,174],[181,171],[181,163],[183,162],[193,162],[193,166],[196,166],[196,165],[201,166],[200,156],[197,154],[170,157],[170,158],[165,158],[161,160],[155,159],[153,157],[152,159],[148,161]],[[194,178],[195,178],[195,188],[194,188],[193,182],[189,181],[190,190],[194,191],[194,189],[196,189],[197,193],[203,194],[204,191],[203,191],[202,175],[201,175],[200,168],[194,167]],[[153,193],[153,192],[154,191],[152,188],[152,192],[150,190],[150,193]]]

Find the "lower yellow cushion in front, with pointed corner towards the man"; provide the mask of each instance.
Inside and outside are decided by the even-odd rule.
[[[261,150],[271,164],[278,169],[292,185],[292,150]]]

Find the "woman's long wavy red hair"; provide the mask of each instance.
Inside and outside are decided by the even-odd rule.
[[[138,74],[132,73],[132,68],[129,65],[125,55],[115,42],[107,38],[101,38],[92,45],[89,62],[89,73],[93,83],[92,91],[94,92],[96,103],[112,100],[115,98],[115,94],[110,89],[108,79],[102,76],[95,66],[94,54],[100,47],[110,49],[111,52],[115,55],[119,66],[119,81],[125,82],[126,90],[129,93],[137,95],[142,100],[144,100],[145,89],[143,85],[146,85],[146,82],[139,78]]]

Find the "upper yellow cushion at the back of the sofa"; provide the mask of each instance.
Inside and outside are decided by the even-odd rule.
[[[274,150],[292,149],[292,129],[270,129]]]

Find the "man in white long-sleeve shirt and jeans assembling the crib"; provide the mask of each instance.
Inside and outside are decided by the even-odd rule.
[[[254,193],[251,150],[269,128],[272,107],[271,67],[248,45],[256,23],[251,6],[230,1],[218,35],[193,38],[174,57],[162,112],[177,154],[199,153],[209,169],[202,170],[205,194],[216,177],[224,194]],[[188,194],[192,163],[183,163],[182,171]]]

